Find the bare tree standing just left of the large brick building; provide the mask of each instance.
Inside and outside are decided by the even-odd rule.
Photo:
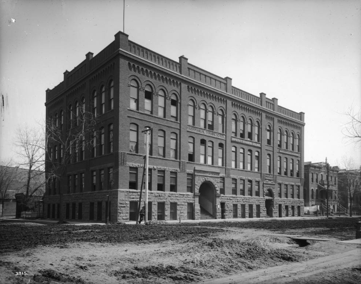
[[[45,140],[44,133],[39,128],[19,127],[15,139],[20,157],[19,167],[25,168],[26,193],[24,204],[28,207],[29,200],[34,194],[44,194],[45,187]],[[26,209],[27,210],[27,209]]]

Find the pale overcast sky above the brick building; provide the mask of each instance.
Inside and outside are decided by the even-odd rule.
[[[14,158],[17,127],[45,117],[45,90],[118,31],[129,40],[305,112],[305,162],[342,157],[343,114],[361,105],[359,0],[0,0],[0,160]]]

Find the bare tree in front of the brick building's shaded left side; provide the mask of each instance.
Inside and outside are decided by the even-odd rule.
[[[67,125],[63,124],[67,117]],[[96,114],[85,111],[85,105],[76,109],[65,109],[59,117],[46,121],[45,125],[45,167],[48,185],[59,184],[59,223],[63,223],[63,194],[66,193],[66,173],[70,163],[84,160],[87,149],[96,151]]]

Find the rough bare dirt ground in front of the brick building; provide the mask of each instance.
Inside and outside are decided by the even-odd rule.
[[[359,283],[361,245],[338,242],[354,239],[356,221],[0,222],[0,282]],[[301,235],[329,240],[291,238]]]

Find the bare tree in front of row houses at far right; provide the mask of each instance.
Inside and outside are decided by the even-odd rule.
[[[348,199],[350,217],[352,217],[352,205],[356,197],[361,194],[360,190],[360,169],[356,169],[352,158],[342,158],[341,170],[338,172],[339,190],[344,199]]]

